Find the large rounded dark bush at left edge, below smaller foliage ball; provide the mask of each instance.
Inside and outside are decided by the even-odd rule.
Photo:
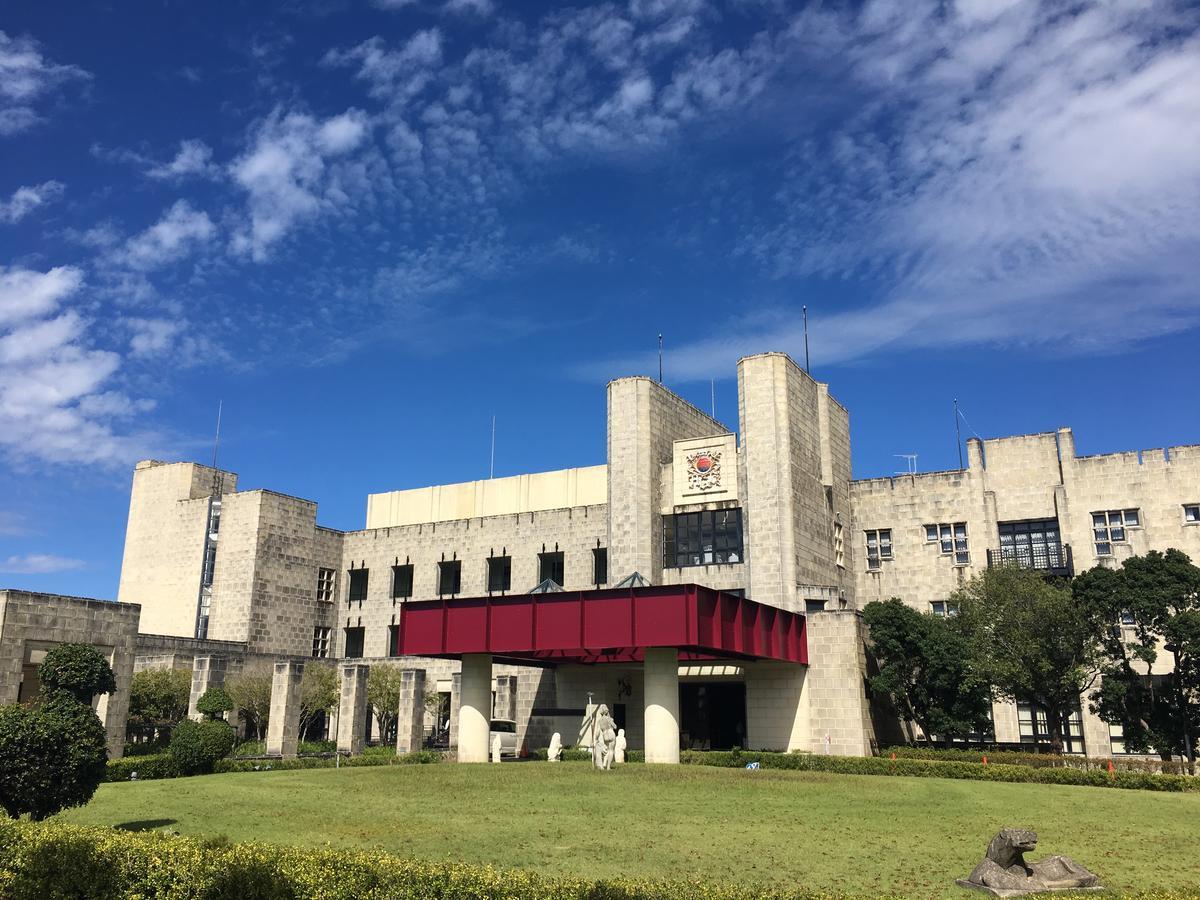
[[[82,806],[104,779],[108,736],[66,691],[30,708],[0,707],[0,808],[41,820]]]

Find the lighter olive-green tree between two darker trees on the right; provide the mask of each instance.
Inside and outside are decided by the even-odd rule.
[[[1015,565],[983,571],[950,601],[979,677],[998,697],[1040,706],[1062,752],[1067,718],[1099,673],[1103,622],[1067,583]]]

